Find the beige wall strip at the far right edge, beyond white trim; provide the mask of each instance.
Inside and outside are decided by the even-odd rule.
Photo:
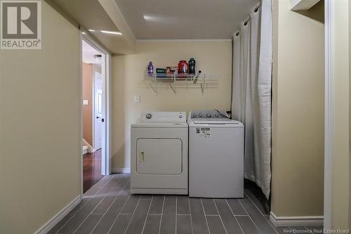
[[[334,3],[334,100],[333,100],[333,178],[332,227],[348,228],[350,225],[350,155],[349,155],[349,79],[350,38],[349,1]]]

